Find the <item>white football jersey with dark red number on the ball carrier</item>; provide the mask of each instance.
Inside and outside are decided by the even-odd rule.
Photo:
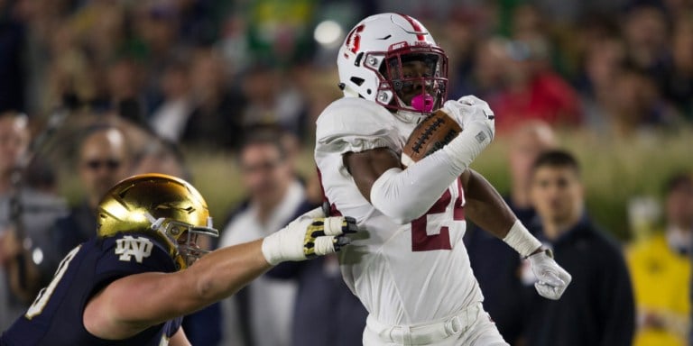
[[[349,151],[386,147],[400,154],[416,126],[403,119],[374,102],[341,98],[320,114],[315,149],[328,202],[367,231],[366,239],[341,252],[342,275],[368,312],[392,325],[438,320],[483,300],[462,242],[465,198],[459,179],[427,214],[398,224],[361,195],[343,164]]]

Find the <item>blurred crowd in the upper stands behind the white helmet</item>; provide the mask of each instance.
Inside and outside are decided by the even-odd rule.
[[[244,126],[310,138],[334,53],[366,14],[426,23],[501,132],[527,118],[605,136],[693,121],[686,0],[3,0],[0,111],[116,113],[165,139],[233,147]],[[332,24],[325,25],[325,24]]]

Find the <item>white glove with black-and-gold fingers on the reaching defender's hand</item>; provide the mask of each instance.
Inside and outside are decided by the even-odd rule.
[[[351,240],[356,220],[348,216],[325,217],[321,208],[302,214],[263,240],[263,255],[276,265],[287,260],[312,259],[334,253]]]

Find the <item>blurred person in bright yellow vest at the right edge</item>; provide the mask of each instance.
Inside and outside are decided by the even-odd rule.
[[[690,328],[693,178],[671,177],[664,202],[663,232],[654,232],[628,251],[638,310],[635,346],[684,345]]]

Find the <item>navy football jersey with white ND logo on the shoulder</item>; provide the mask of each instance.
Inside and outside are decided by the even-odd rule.
[[[99,339],[82,323],[88,299],[101,288],[118,278],[152,271],[172,272],[175,265],[166,250],[143,234],[119,234],[84,242],[62,259],[51,284],[3,333],[0,345],[165,345],[180,328],[182,318],[152,326],[122,341]]]

